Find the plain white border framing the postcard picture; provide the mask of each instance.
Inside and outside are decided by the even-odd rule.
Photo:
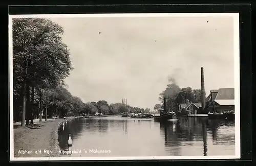
[[[12,18],[73,18],[73,17],[233,17],[234,25],[234,99],[235,99],[235,150],[232,156],[134,156],[134,157],[14,157],[13,143],[13,63],[12,63]],[[10,83],[10,161],[63,161],[63,160],[189,160],[189,159],[239,159],[240,151],[240,48],[239,13],[148,13],[148,14],[38,14],[9,15],[9,83]]]

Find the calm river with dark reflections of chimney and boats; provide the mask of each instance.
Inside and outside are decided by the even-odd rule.
[[[234,122],[207,117],[165,123],[121,116],[77,118],[58,131],[60,150],[73,150],[62,154],[66,157],[235,155],[234,136]]]

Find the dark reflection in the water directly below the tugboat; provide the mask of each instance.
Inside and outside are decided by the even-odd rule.
[[[164,133],[166,151],[172,156],[179,155],[179,140],[176,130],[177,121],[165,121],[160,123],[160,130]]]

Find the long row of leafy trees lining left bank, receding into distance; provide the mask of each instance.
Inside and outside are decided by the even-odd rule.
[[[63,28],[50,19],[13,19],[13,115],[22,126],[35,118],[79,113],[115,114],[141,110],[106,101],[83,103],[67,90],[64,79],[73,69],[62,42]]]

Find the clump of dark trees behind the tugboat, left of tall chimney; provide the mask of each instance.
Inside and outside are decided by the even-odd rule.
[[[186,100],[193,103],[201,103],[201,89],[192,89],[191,87],[180,88],[175,83],[168,84],[166,89],[160,93],[159,101],[162,104],[156,104],[155,110],[163,109],[164,97],[166,98],[167,110],[177,112],[179,105],[186,103]]]

